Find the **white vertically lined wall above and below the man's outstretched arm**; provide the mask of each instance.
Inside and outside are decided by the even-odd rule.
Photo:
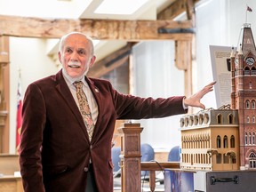
[[[134,94],[140,97],[167,98],[184,95],[184,72],[175,68],[174,42],[153,41],[132,49]],[[170,108],[172,110],[172,108]],[[141,143],[154,148],[171,148],[180,144],[180,117],[140,120],[144,127]]]

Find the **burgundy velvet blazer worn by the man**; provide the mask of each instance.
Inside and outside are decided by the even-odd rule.
[[[20,142],[20,172],[26,192],[84,192],[84,170],[90,158],[99,192],[113,192],[111,140],[116,119],[187,112],[183,96],[139,98],[116,92],[106,80],[85,79],[99,109],[91,142],[61,70],[28,85]]]

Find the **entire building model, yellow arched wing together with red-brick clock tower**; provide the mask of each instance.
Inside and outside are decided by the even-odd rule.
[[[180,119],[181,169],[256,169],[256,48],[251,25],[242,30],[230,55],[231,103]]]

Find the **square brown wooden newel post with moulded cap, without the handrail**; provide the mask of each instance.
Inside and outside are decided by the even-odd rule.
[[[140,124],[123,124],[121,134],[122,192],[140,192]]]

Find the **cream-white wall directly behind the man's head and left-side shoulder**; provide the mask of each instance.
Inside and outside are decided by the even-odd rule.
[[[44,39],[10,37],[10,153],[15,153],[17,86],[20,70],[22,96],[28,84],[59,69],[46,55]]]

